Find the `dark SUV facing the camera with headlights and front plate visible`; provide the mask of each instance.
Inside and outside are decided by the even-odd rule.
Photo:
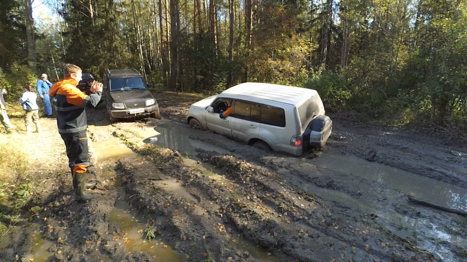
[[[147,89],[143,76],[136,69],[107,69],[104,86],[111,121],[145,116],[160,118],[156,98]]]

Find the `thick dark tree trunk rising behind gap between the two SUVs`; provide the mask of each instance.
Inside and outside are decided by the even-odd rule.
[[[177,31],[177,11],[179,10],[179,0],[170,0],[170,88],[177,91],[177,65],[178,65],[178,31]]]

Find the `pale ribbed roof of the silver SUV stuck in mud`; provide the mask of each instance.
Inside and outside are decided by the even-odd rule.
[[[287,86],[270,83],[246,82],[235,85],[222,94],[241,95],[253,98],[262,98],[286,104],[296,105],[304,97],[312,97],[318,94],[316,90],[296,86]]]

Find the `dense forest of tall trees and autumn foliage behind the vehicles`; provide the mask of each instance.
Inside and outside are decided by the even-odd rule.
[[[16,101],[64,63],[138,69],[176,92],[240,82],[318,90],[327,111],[467,133],[465,0],[0,1],[0,77]]]

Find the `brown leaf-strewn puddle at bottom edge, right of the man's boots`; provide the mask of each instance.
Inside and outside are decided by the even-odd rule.
[[[136,211],[131,211],[128,202],[117,200],[115,208],[110,213],[111,222],[117,223],[123,236],[114,239],[118,243],[125,245],[130,252],[145,252],[156,261],[178,262],[184,261],[170,246],[160,239],[153,239],[151,242],[144,242],[144,232],[146,231],[146,220],[137,215]]]

